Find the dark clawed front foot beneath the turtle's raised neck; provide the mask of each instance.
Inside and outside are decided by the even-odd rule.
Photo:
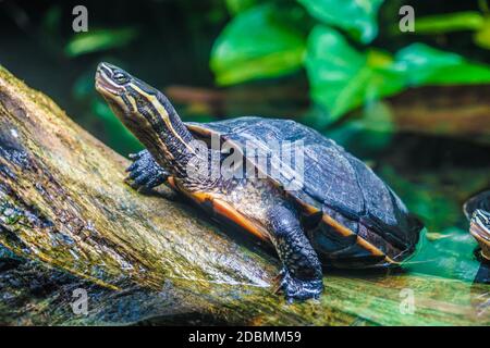
[[[148,150],[132,153],[130,159],[134,162],[126,172],[130,173],[127,177],[132,179],[131,187],[135,189],[151,189],[163,184],[170,175],[154,160]]]

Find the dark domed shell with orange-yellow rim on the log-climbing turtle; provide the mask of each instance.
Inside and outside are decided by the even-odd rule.
[[[252,116],[187,127],[200,138],[219,135],[248,159],[247,149],[260,149],[257,169],[294,198],[305,222],[321,222],[307,233],[323,263],[396,264],[415,250],[421,223],[364,162],[320,133],[291,120]],[[278,151],[278,144],[299,147],[302,160]]]

